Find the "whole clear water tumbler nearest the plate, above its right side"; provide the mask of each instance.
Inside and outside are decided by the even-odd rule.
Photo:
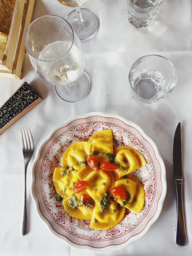
[[[166,97],[177,80],[173,64],[159,55],[146,55],[136,60],[129,72],[132,97],[139,103],[153,103]]]

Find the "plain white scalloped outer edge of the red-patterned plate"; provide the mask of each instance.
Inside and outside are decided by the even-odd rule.
[[[152,147],[155,158],[156,158],[156,160],[159,164],[160,170],[161,170],[161,175],[160,175],[161,178],[160,178],[160,180],[158,180],[158,183],[160,182],[159,184],[161,184],[161,193],[159,195],[159,198],[157,199],[157,206],[155,209],[155,213],[148,220],[148,222],[146,223],[146,226],[141,230],[141,232],[138,232],[137,234],[133,233],[132,236],[127,241],[122,240],[115,245],[107,244],[106,246],[102,246],[100,248],[98,248],[98,246],[96,245],[96,242],[95,242],[95,244],[93,243],[93,244],[89,244],[89,245],[80,244],[79,242],[70,241],[67,237],[65,237],[64,235],[61,235],[59,232],[57,232],[57,230],[55,230],[54,227],[51,226],[51,223],[48,221],[48,219],[42,214],[42,212],[40,210],[40,204],[39,204],[37,195],[35,193],[35,168],[36,168],[36,165],[37,165],[40,157],[42,157],[42,154],[43,154],[42,149],[45,147],[45,145],[47,145],[47,143],[51,140],[52,136],[57,131],[59,131],[59,129],[69,126],[73,121],[76,121],[76,120],[79,121],[81,119],[88,119],[88,118],[93,118],[93,117],[94,118],[104,118],[106,120],[114,119],[118,122],[121,121],[125,125],[128,125],[128,126],[132,127],[133,129],[135,129],[138,132],[138,134],[140,134],[141,137],[146,142],[149,143],[150,147]],[[157,168],[157,170],[158,170],[158,168]],[[122,248],[130,245],[134,241],[138,240],[139,238],[141,238],[148,231],[150,226],[157,220],[157,218],[159,217],[159,215],[161,213],[161,210],[163,207],[163,202],[164,202],[165,195],[166,195],[166,187],[167,187],[167,185],[166,185],[165,165],[164,165],[163,159],[162,159],[155,143],[151,140],[151,138],[149,138],[137,124],[135,124],[129,120],[126,120],[119,115],[107,114],[107,113],[102,113],[102,112],[92,112],[92,113],[74,116],[73,118],[70,118],[69,120],[67,120],[65,123],[60,124],[59,126],[55,127],[55,129],[52,130],[51,133],[48,135],[48,137],[41,143],[41,145],[37,151],[35,160],[33,162],[32,172],[31,172],[31,195],[34,200],[37,213],[38,213],[39,217],[41,218],[41,220],[46,224],[46,226],[52,232],[52,234],[54,234],[57,238],[61,239],[62,241],[66,242],[71,247],[74,247],[76,249],[81,249],[81,250],[87,250],[87,251],[91,251],[91,252],[99,252],[99,253],[105,252],[105,251],[122,249]],[[77,234],[77,236],[78,236],[78,234]]]

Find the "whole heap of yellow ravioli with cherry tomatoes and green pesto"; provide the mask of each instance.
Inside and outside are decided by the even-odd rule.
[[[65,198],[65,211],[79,220],[91,219],[92,228],[112,228],[122,220],[125,208],[136,214],[142,210],[144,189],[129,173],[145,164],[143,155],[132,147],[113,151],[112,130],[96,132],[88,142],[76,142],[64,152],[63,168],[56,167],[53,174],[56,200]]]

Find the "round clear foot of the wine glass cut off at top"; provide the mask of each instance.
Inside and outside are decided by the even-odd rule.
[[[76,35],[80,40],[92,37],[99,27],[98,17],[89,9],[81,8],[83,22],[79,22],[76,10],[66,16]]]

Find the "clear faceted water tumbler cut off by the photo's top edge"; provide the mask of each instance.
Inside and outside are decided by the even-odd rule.
[[[126,0],[129,22],[136,28],[148,27],[165,0]]]

